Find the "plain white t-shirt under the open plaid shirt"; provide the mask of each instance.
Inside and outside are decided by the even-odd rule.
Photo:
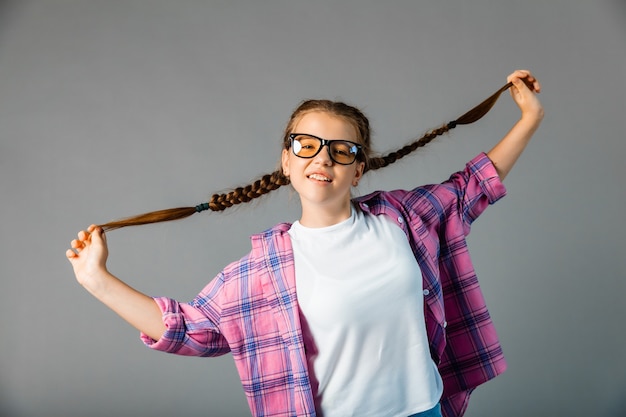
[[[422,275],[404,232],[353,208],[329,227],[295,222],[289,235],[318,412],[406,417],[434,407],[443,383],[426,336]]]

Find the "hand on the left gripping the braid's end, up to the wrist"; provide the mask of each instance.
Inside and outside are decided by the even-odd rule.
[[[70,243],[72,249],[65,256],[74,268],[76,280],[87,289],[95,289],[108,274],[106,268],[109,250],[102,228],[91,225],[78,233],[78,239]]]

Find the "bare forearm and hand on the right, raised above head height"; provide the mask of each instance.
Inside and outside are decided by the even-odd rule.
[[[522,115],[502,140],[487,153],[502,180],[511,171],[543,119],[543,106],[537,99],[541,85],[532,73],[517,70],[507,79],[513,82],[511,97]]]

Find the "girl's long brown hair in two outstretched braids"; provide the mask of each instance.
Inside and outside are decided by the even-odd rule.
[[[284,131],[282,147],[283,149],[289,149],[289,134],[293,133],[293,128],[305,114],[311,112],[324,112],[339,117],[354,126],[357,132],[357,140],[363,146],[362,151],[359,152],[358,160],[365,164],[364,172],[384,168],[393,164],[398,159],[401,159],[415,150],[429,144],[433,139],[443,135],[451,129],[454,129],[457,125],[470,124],[481,119],[485,114],[487,114],[487,112],[489,112],[489,110],[491,110],[500,97],[500,94],[511,87],[511,85],[512,83],[504,85],[486,100],[472,108],[467,113],[458,117],[456,120],[433,129],[419,139],[415,139],[402,148],[384,156],[373,155],[369,120],[359,109],[339,101],[306,100],[300,103],[300,105],[291,114]],[[270,191],[274,191],[283,185],[288,185],[289,183],[289,178],[283,174],[282,170],[279,169],[270,174],[261,176],[252,184],[246,185],[245,187],[237,187],[227,193],[213,194],[208,202],[198,204],[195,207],[178,207],[153,211],[125,219],[114,220],[102,224],[100,227],[102,227],[105,231],[109,231],[126,226],[139,226],[143,224],[179,220],[204,210],[223,211],[233,205],[247,203],[255,198],[269,193]]]

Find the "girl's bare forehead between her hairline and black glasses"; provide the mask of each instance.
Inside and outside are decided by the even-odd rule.
[[[357,132],[352,123],[330,113],[312,111],[296,121],[293,133],[308,133],[324,139],[346,139],[356,142]]]

